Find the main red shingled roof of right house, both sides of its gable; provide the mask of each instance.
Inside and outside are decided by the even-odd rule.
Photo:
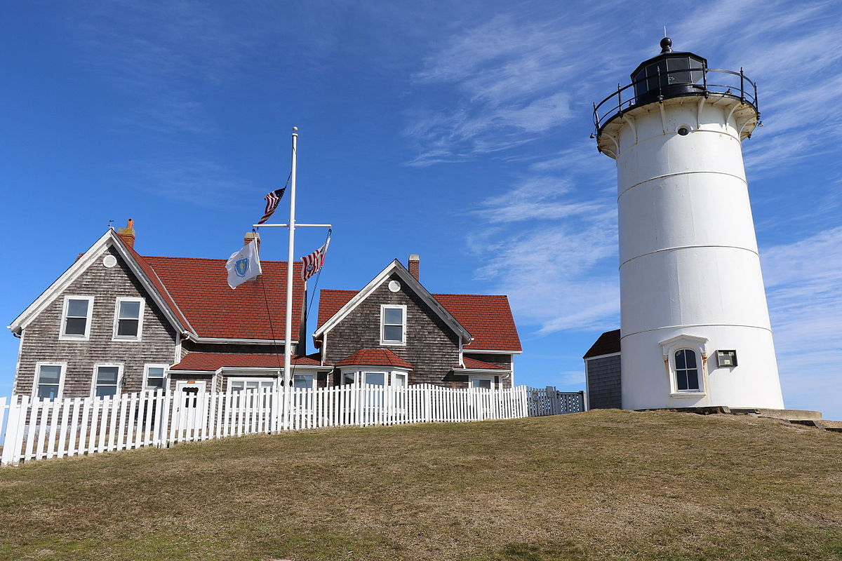
[[[322,289],[319,293],[318,327],[354,298],[359,290]],[[474,338],[465,350],[520,351],[509,297],[488,294],[433,294]]]

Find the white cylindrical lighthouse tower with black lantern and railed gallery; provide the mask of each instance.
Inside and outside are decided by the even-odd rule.
[[[757,89],[661,54],[594,106],[617,163],[624,409],[782,409],[741,142]]]

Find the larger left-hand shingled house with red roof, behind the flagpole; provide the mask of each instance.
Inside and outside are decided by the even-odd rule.
[[[285,262],[263,262],[262,278],[232,290],[225,259],[141,256],[134,242],[131,220],[105,232],[9,325],[20,338],[13,394],[240,388],[259,357],[277,368],[280,352],[283,364],[277,331],[285,299],[264,299],[264,288],[285,294]],[[301,263],[293,267],[296,352],[305,336],[305,288]],[[308,357],[296,363],[302,373],[319,365]]]

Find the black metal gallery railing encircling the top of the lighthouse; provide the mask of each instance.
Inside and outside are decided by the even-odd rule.
[[[686,76],[690,71],[694,74],[700,72],[696,69],[682,68],[664,71],[662,75],[661,71],[658,70],[658,87],[635,87],[647,81],[653,81],[652,76],[643,77],[624,87],[617,84],[617,91],[615,93],[612,93],[600,101],[600,103],[594,103],[595,134],[600,135],[606,124],[633,108],[646,105],[647,103],[661,102],[668,98],[687,96],[704,96],[705,98],[709,98],[711,95],[726,96],[739,99],[740,103],[747,103],[758,114],[760,113],[757,104],[757,84],[749,80],[749,77],[743,73],[742,68],[738,72],[719,68],[705,68],[701,70],[701,81],[699,82],[670,81],[670,74],[681,73]],[[715,82],[723,83],[711,82],[711,78]],[[636,89],[640,93],[636,93]],[[645,91],[642,91],[644,89]]]

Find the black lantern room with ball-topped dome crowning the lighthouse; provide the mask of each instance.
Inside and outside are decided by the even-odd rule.
[[[661,54],[643,61],[632,72],[636,103],[694,95],[705,91],[707,61],[693,53],[674,52],[669,37],[661,40]]]

